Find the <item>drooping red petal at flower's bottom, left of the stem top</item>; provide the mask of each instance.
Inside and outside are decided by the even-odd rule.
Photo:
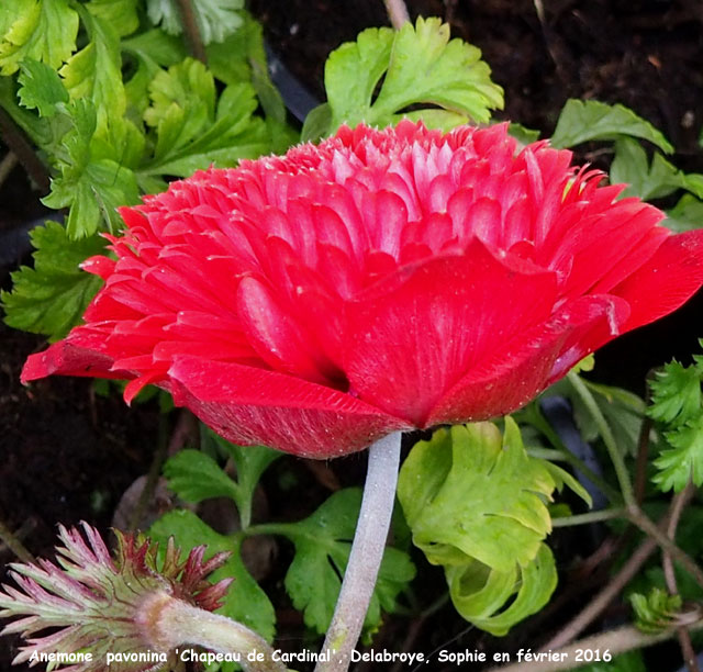
[[[410,428],[349,394],[276,371],[181,357],[168,373],[176,404],[237,444],[324,459]]]

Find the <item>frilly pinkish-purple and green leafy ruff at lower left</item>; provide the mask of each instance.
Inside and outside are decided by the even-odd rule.
[[[19,632],[26,641],[14,664],[47,661],[47,670],[64,672],[171,669],[178,657],[152,637],[149,601],[168,596],[205,611],[222,605],[233,580],[213,584],[207,578],[228,553],[204,561],[205,547],[199,546],[181,560],[169,539],[158,561],[148,539],[115,534],[113,559],[96,528],[83,523],[81,535],[59,525],[57,563],[41,559],[10,565],[18,587],[0,586],[0,618],[14,620],[0,635]],[[108,654],[115,656],[112,664],[105,663]]]

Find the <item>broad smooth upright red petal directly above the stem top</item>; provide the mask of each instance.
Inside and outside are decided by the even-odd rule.
[[[400,269],[347,304],[350,389],[422,426],[472,366],[546,320],[555,295],[554,273],[499,261],[476,238],[466,256]]]

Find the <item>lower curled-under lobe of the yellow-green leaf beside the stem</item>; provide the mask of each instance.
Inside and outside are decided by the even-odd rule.
[[[510,570],[500,571],[470,560],[446,567],[445,573],[457,612],[469,623],[499,637],[544,607],[557,586],[554,556],[544,544],[524,567],[514,564]]]

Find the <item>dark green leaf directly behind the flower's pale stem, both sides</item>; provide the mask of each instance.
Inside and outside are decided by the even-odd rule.
[[[293,606],[303,612],[305,625],[321,635],[332,620],[360,506],[359,490],[341,490],[309,518],[287,524],[286,529],[280,530],[295,545],[295,558],[286,574],[286,590]],[[415,569],[406,553],[386,549],[366,615],[366,628],[378,626],[381,608],[394,609],[398,593],[414,575]]]

